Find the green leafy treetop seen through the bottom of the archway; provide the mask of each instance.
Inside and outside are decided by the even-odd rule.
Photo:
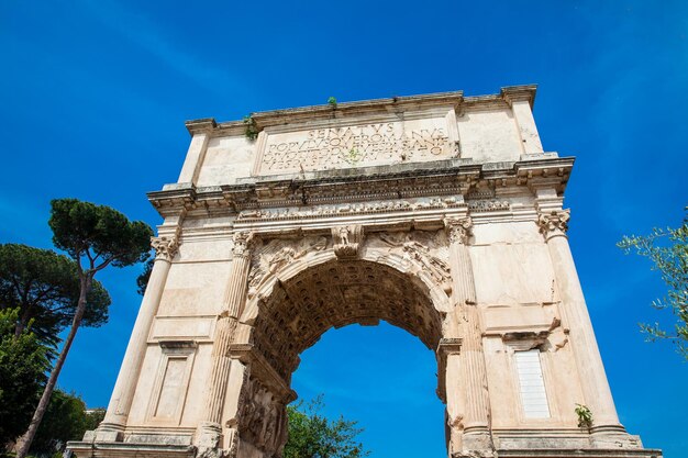
[[[370,453],[356,442],[357,422],[340,416],[331,421],[319,412],[324,404],[322,395],[311,402],[287,406],[289,438],[285,445],[284,458],[360,458]]]

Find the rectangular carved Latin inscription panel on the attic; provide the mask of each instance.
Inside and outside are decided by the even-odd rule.
[[[418,163],[457,156],[445,118],[268,133],[259,175]]]

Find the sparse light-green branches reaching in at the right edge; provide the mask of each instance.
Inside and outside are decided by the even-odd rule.
[[[663,329],[658,323],[641,324],[648,340],[667,339],[688,360],[688,215],[678,228],[654,228],[651,235],[624,236],[617,244],[626,254],[632,250],[647,257],[653,270],[659,271],[667,286],[667,295],[653,301],[657,310],[669,310],[676,320],[673,331]]]

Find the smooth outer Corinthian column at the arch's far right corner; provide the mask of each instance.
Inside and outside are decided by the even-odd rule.
[[[569,328],[568,339],[575,355],[585,404],[592,412],[592,433],[624,433],[617,416],[580,280],[568,246],[566,231],[569,217],[568,210],[551,210],[540,214],[537,225],[550,249],[554,278],[562,299],[562,319],[564,325]]]

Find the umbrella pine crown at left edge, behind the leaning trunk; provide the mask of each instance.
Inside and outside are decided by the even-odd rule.
[[[79,299],[79,273],[74,260],[49,249],[0,245],[0,310],[20,308],[15,333],[33,320],[32,331],[56,347],[58,334],[71,323]],[[95,281],[87,299],[85,326],[108,322],[110,294]]]

